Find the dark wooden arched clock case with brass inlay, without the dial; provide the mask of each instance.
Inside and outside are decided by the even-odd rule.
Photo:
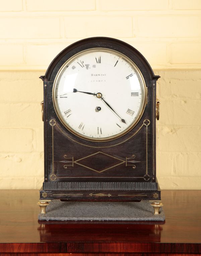
[[[141,71],[147,90],[146,107],[139,122],[124,136],[93,142],[68,131],[53,105],[53,84],[61,66],[90,48],[119,51]],[[117,39],[80,40],[59,53],[48,67],[44,83],[44,183],[40,200],[140,201],[160,200],[156,179],[156,81],[160,76],[132,46]]]

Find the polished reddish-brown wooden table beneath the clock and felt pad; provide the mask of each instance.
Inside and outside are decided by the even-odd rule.
[[[201,254],[199,190],[163,190],[165,223],[39,222],[38,190],[0,190],[0,195],[1,255]]]

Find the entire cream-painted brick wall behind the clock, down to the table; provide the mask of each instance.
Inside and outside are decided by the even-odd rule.
[[[91,36],[131,44],[161,76],[160,187],[201,189],[200,0],[7,0],[0,22],[0,189],[42,186],[39,76],[61,50]]]

